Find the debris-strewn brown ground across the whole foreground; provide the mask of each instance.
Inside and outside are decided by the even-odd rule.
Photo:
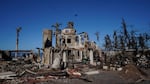
[[[9,65],[8,65],[9,64]],[[12,80],[1,79],[0,84],[150,84],[150,69],[139,69],[134,65],[126,65],[121,71],[97,69],[88,65],[79,64],[75,69],[51,70],[31,64],[3,63],[2,70],[17,72]],[[15,65],[14,65],[15,64]],[[7,65],[7,66],[5,66]],[[81,75],[70,72],[79,72]],[[94,75],[85,75],[83,72],[98,71]],[[74,77],[75,76],[75,77]]]

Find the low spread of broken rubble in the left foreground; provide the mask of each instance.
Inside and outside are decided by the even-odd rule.
[[[88,71],[88,66],[81,65],[64,70],[53,70],[44,65],[26,64],[22,60],[5,61],[0,65],[0,84],[45,84],[45,82],[49,84],[58,79],[80,79],[92,82],[82,73],[83,70]]]

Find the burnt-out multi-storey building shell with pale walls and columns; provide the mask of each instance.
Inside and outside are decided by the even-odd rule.
[[[89,40],[88,34],[82,32],[77,34],[73,22],[68,22],[68,26],[59,29],[59,24],[54,25],[55,31],[43,31],[43,57],[42,63],[50,65],[52,68],[67,67],[70,63],[82,62],[95,65],[101,56],[101,50],[95,42]],[[52,36],[55,35],[55,46],[52,45]]]

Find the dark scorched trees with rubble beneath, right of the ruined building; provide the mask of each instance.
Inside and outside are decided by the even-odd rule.
[[[149,33],[137,33],[129,31],[124,19],[122,30],[114,31],[112,37],[106,35],[104,51],[105,64],[125,66],[134,64],[140,68],[150,68],[150,35]]]

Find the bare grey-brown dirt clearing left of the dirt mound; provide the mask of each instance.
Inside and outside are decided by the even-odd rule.
[[[87,81],[88,79],[88,81]],[[100,71],[99,74],[87,75],[83,79],[57,79],[36,84],[129,84],[126,80],[122,79],[118,72],[114,71]]]

